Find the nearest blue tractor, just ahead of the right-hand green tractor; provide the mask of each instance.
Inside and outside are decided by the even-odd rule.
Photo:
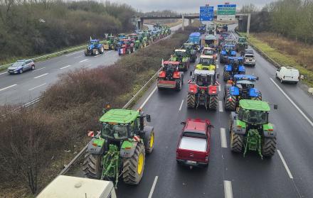
[[[262,93],[255,88],[258,79],[253,75],[234,75],[233,81],[225,85],[225,109],[235,111],[240,99],[262,100]]]

